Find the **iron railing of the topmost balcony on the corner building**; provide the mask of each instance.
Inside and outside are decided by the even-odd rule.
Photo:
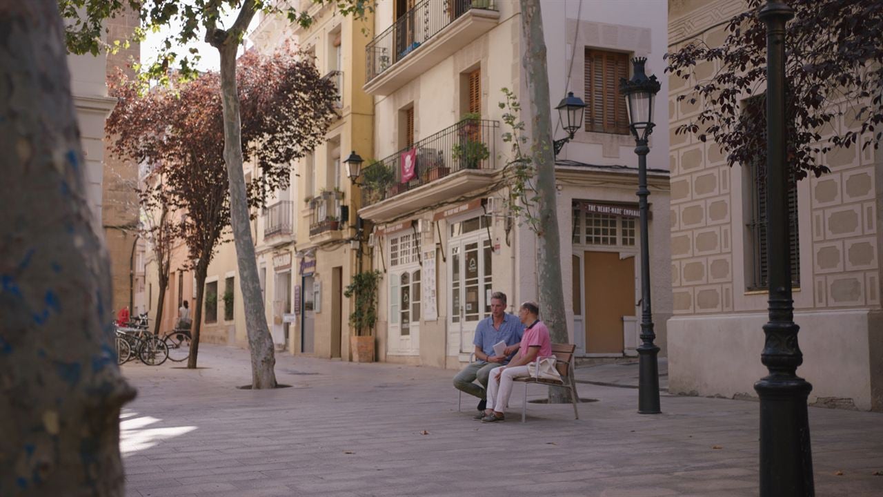
[[[374,80],[472,9],[495,11],[496,0],[423,0],[369,42],[365,82]]]

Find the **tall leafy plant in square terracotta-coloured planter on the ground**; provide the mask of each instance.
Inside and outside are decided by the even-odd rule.
[[[377,323],[377,284],[381,271],[359,272],[344,291],[346,298],[356,297],[350,313],[350,351],[355,363],[374,362],[374,325]]]

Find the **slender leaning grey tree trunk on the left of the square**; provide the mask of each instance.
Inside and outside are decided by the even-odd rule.
[[[254,4],[246,2],[231,33],[212,45],[221,54],[221,94],[223,103],[224,162],[230,182],[230,225],[236,245],[239,288],[245,308],[245,331],[252,355],[252,388],[275,388],[275,356],[273,338],[264,314],[260,295],[258,261],[254,255],[252,224],[245,197],[245,175],[242,172],[242,123],[239,120],[239,96],[236,86],[236,51],[239,46],[237,27],[245,30],[254,16]],[[221,38],[221,36],[218,36]]]

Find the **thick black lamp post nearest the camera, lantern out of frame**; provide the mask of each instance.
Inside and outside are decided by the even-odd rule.
[[[769,1],[758,17],[766,24],[766,240],[769,322],[760,361],[769,375],[754,384],[760,397],[760,495],[815,494],[806,398],[812,386],[796,375],[804,356],[797,345],[791,300],[789,167],[785,122],[785,23],[787,4]]]

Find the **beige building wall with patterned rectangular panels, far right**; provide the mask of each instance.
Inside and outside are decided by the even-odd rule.
[[[669,3],[671,50],[689,42],[720,45],[739,2]],[[675,134],[701,103],[677,102],[695,78],[718,67],[698,65],[691,80],[669,80],[671,273],[674,314],[668,321],[669,391],[755,396],[767,321],[763,216],[750,165],[730,168],[712,142]],[[847,105],[849,107],[849,105]],[[822,134],[858,127],[854,112]],[[880,312],[879,152],[859,146],[819,157],[831,173],[799,181],[792,241],[794,320],[812,384],[810,402],[883,409],[883,318]]]

